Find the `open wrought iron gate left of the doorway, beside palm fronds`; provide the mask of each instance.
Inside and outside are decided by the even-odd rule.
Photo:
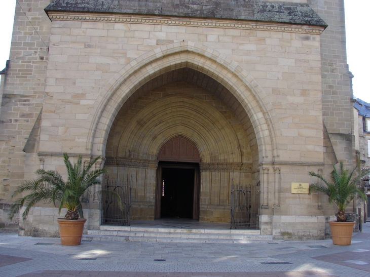
[[[131,182],[128,184],[122,180],[105,180],[103,191],[114,191],[121,197],[123,208],[114,195],[103,193],[102,196],[102,225],[127,225],[130,226],[131,208]]]

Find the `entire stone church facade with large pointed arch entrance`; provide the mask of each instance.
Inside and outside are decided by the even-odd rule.
[[[132,219],[164,217],[163,179],[188,169],[188,218],[230,222],[232,184],[250,184],[263,234],[323,239],[335,207],[291,183],[354,166],[349,76],[343,0],[20,1],[2,71],[0,220],[58,232],[57,209],[8,222],[7,203],[36,169],[63,172],[67,152],[101,155],[104,178],[131,183]],[[98,229],[101,200],[85,211]]]

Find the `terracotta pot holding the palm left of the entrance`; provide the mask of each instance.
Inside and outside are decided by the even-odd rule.
[[[80,218],[78,220],[58,218],[57,220],[62,245],[80,245],[86,218]]]

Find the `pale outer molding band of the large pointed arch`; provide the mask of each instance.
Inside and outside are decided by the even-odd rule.
[[[224,85],[246,110],[258,143],[261,162],[278,156],[274,110],[266,93],[248,72],[225,55],[200,44],[179,42],[147,52],[127,64],[104,87],[86,122],[89,129],[87,149],[104,155],[109,129],[122,107],[146,82],[165,72],[189,67]]]

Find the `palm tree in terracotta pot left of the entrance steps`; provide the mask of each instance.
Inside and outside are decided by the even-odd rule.
[[[8,214],[9,219],[13,219],[25,206],[22,214],[23,220],[35,204],[44,202],[46,204],[53,203],[54,207],[59,206],[59,213],[62,208],[67,208],[67,213],[64,218],[58,218],[59,233],[62,245],[80,245],[84,224],[84,218],[81,198],[91,194],[90,188],[100,184],[99,176],[106,173],[105,169],[94,169],[93,165],[100,159],[100,156],[87,163],[84,166],[82,156],[78,157],[77,163],[72,166],[69,162],[67,153],[63,154],[64,165],[66,167],[67,180],[65,181],[62,175],[56,171],[44,169],[36,170],[35,174],[38,176],[34,180],[25,181],[20,185],[11,195],[14,199],[17,195],[23,192],[29,194],[20,199],[16,199],[10,207]],[[101,193],[102,190],[94,192]],[[119,199],[120,196],[115,192],[115,197]]]

